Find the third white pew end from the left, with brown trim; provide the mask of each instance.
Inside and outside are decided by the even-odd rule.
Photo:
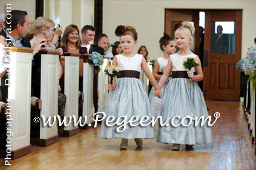
[[[68,116],[75,115],[78,120],[79,97],[83,96],[79,92],[79,57],[81,54],[66,52],[63,55],[65,58],[59,60],[63,68],[62,79],[64,79],[64,85],[61,88],[67,96],[64,116],[68,118]],[[79,127],[74,127],[72,119],[71,124],[64,127],[64,136],[70,137],[77,133],[79,133]]]

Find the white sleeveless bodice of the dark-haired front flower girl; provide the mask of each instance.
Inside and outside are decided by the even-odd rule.
[[[134,57],[125,57],[122,54],[116,55],[117,65],[121,70],[141,71],[143,55],[135,54]]]

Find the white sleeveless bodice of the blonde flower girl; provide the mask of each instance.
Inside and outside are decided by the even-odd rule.
[[[185,68],[184,65],[182,65],[183,61],[187,57],[197,57],[195,54],[189,54],[189,55],[179,55],[177,53],[171,55],[171,60],[172,60],[172,71],[189,71],[188,68]],[[186,59],[185,59],[186,60]],[[195,67],[191,68],[191,71],[195,72]]]

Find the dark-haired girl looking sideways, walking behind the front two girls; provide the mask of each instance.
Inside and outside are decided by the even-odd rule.
[[[162,70],[165,69],[168,63],[168,60],[171,59],[170,55],[174,54],[176,51],[176,48],[175,48],[176,44],[175,44],[174,38],[170,37],[166,33],[163,33],[163,37],[160,38],[159,44],[160,44],[160,49],[163,51],[163,56],[157,58],[157,61],[154,65],[153,75],[155,79],[157,79],[157,82],[162,77],[163,75]],[[165,85],[168,84],[168,81],[170,81],[171,79],[172,77],[169,77]],[[163,87],[161,88],[162,94],[164,92],[165,85],[163,85]],[[151,114],[152,116],[157,118],[157,116],[160,116],[162,99],[159,99],[157,96],[154,97],[153,91],[154,91],[154,87],[151,89],[148,98],[150,103]]]

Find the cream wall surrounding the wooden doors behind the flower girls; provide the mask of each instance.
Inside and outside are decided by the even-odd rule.
[[[114,35],[116,26],[134,26],[138,33],[134,51],[145,45],[149,57],[156,59],[162,55],[158,41],[164,31],[165,8],[243,9],[242,57],[256,37],[256,0],[103,0],[103,33],[113,43],[119,40]]]

